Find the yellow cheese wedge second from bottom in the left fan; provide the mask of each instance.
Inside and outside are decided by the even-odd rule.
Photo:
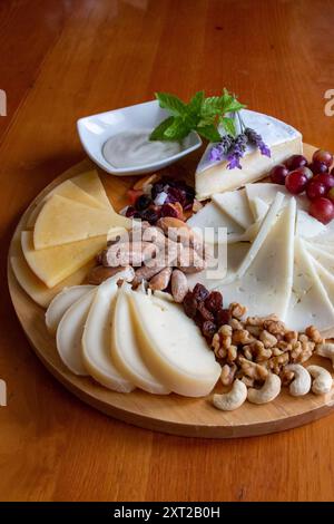
[[[37,251],[33,249],[32,235],[32,231],[21,233],[23,255],[33,273],[48,288],[53,288],[86,265],[106,246],[107,242],[106,236],[101,235]]]

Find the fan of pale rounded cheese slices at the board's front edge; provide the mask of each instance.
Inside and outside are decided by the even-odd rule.
[[[220,366],[199,329],[169,294],[134,291],[126,283],[132,278],[127,268],[98,287],[75,285],[52,300],[46,322],[62,362],[115,391],[209,394]]]

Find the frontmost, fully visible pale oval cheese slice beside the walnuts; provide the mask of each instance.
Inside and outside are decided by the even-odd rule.
[[[128,297],[143,358],[151,371],[179,395],[208,395],[220,366],[183,308],[161,295],[131,292]]]

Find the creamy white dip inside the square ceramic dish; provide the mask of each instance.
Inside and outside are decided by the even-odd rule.
[[[134,167],[168,158],[181,151],[178,142],[150,142],[150,133],[137,129],[111,136],[104,145],[104,157],[115,167]]]

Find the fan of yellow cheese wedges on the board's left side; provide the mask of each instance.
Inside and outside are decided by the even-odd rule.
[[[55,187],[13,239],[11,266],[24,291],[42,307],[65,287],[80,284],[95,256],[131,221],[117,214],[96,171]]]

